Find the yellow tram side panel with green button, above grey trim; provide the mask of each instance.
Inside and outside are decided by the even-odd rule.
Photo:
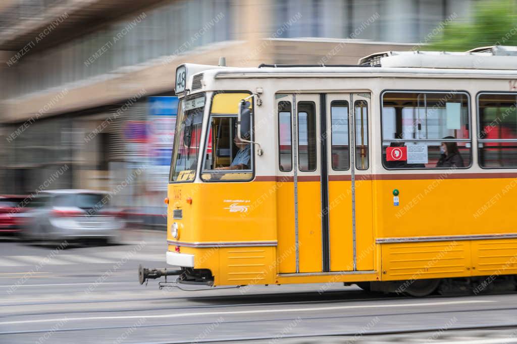
[[[429,179],[413,175],[409,180],[374,181],[374,192],[382,204],[377,207],[377,238],[516,232],[514,219],[508,214],[515,210],[512,200],[517,198],[517,188],[507,191],[506,201],[490,201],[491,195],[502,195],[500,190],[514,179],[468,178],[468,174],[462,178],[425,177]],[[394,189],[400,192],[399,206],[393,205]]]

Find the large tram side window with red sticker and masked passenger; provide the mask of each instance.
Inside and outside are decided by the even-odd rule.
[[[467,168],[471,163],[468,95],[385,92],[383,165],[387,169]]]

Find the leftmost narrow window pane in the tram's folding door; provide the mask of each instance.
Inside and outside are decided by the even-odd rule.
[[[278,156],[280,171],[291,171],[293,169],[293,145],[290,102],[278,103]]]

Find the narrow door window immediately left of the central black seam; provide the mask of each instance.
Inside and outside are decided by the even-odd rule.
[[[298,165],[300,171],[316,170],[316,110],[313,102],[298,103]]]

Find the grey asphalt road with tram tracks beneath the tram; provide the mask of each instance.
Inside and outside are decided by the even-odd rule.
[[[423,299],[333,285],[184,291],[138,283],[165,234],[63,250],[0,241],[0,343],[517,343],[517,294]],[[185,286],[186,289],[197,287]]]

